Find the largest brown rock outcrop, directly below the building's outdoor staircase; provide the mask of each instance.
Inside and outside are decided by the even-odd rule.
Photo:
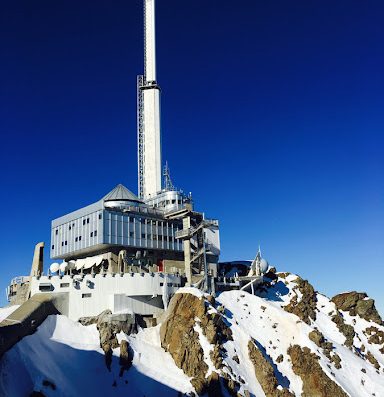
[[[189,293],[178,293],[171,299],[160,328],[161,346],[171,354],[176,365],[192,378],[191,383],[198,395],[218,386],[216,375],[206,377],[208,365],[204,361],[199,334],[194,329],[196,322],[213,345],[210,357],[218,370],[222,367],[222,344],[232,337],[223,316],[209,310],[213,309],[212,304],[213,297],[208,300]],[[210,382],[214,382],[215,386],[211,386]]]

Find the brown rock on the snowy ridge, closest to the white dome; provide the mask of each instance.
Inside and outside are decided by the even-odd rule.
[[[307,280],[297,277],[294,282],[297,286],[293,287],[293,291],[300,291],[301,299],[298,299],[298,295],[295,295],[290,303],[284,306],[284,310],[295,314],[305,323],[311,324],[311,319],[316,320],[316,292]]]

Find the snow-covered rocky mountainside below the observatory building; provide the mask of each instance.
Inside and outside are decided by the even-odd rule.
[[[310,352],[316,354],[320,370],[313,376],[325,374],[323,380],[330,385],[324,390],[336,388],[340,393],[337,395],[353,397],[384,396],[384,326],[353,311],[338,310],[335,303],[311,288],[297,276],[279,274],[278,279],[255,295],[227,291],[215,300],[206,300],[200,291],[181,289],[177,295],[204,302],[206,308],[204,313],[200,309],[195,313],[191,303],[187,318],[185,313],[177,312],[180,305],[171,304],[168,313],[180,318],[175,323],[180,327],[185,326],[183,321],[189,321],[180,345],[188,347],[188,339],[196,336],[189,350],[198,352],[196,363],[183,363],[185,354],[177,356],[180,352],[165,342],[174,336],[165,336],[163,325],[169,321],[165,319],[164,324],[136,334],[117,334],[118,342],[126,340],[133,354],[132,366],[122,376],[120,348],[113,349],[108,371],[95,324],[83,326],[64,316],[49,316],[35,334],[25,337],[1,359],[0,395],[29,396],[32,391],[45,396],[192,394],[192,384],[196,383],[191,380],[199,376],[195,370],[204,362],[206,366],[199,368],[203,368],[202,377],[207,384],[217,373],[219,379],[227,379],[219,380],[221,385],[231,386],[221,387],[221,394],[218,389],[206,388],[209,395],[230,395],[232,389],[244,396],[311,396],[311,382],[316,383],[318,378],[308,379],[300,372],[302,363],[290,350],[297,346],[306,357]],[[213,324],[216,327],[218,319],[221,327],[227,328],[226,338],[222,337],[222,328],[210,328]],[[212,329],[220,334],[217,338],[209,333]],[[172,329],[167,332],[172,333]],[[173,342],[178,347],[178,341]],[[262,367],[255,365],[250,346],[265,359],[260,362]],[[219,359],[213,354],[215,349]],[[193,376],[187,375],[193,371]],[[266,373],[268,377],[264,379]],[[276,383],[274,389],[268,387],[268,382]],[[324,390],[312,395],[325,396]]]

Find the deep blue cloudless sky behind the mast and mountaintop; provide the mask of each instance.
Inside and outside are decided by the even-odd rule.
[[[221,259],[261,244],[278,270],[384,313],[384,3],[157,11],[163,158],[220,220]],[[51,219],[136,192],[142,29],[140,0],[0,3],[1,289],[49,246]]]

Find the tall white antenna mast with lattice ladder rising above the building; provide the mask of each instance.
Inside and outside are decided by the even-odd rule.
[[[161,191],[160,87],[156,80],[155,0],[144,0],[144,74],[137,78],[138,193]]]

